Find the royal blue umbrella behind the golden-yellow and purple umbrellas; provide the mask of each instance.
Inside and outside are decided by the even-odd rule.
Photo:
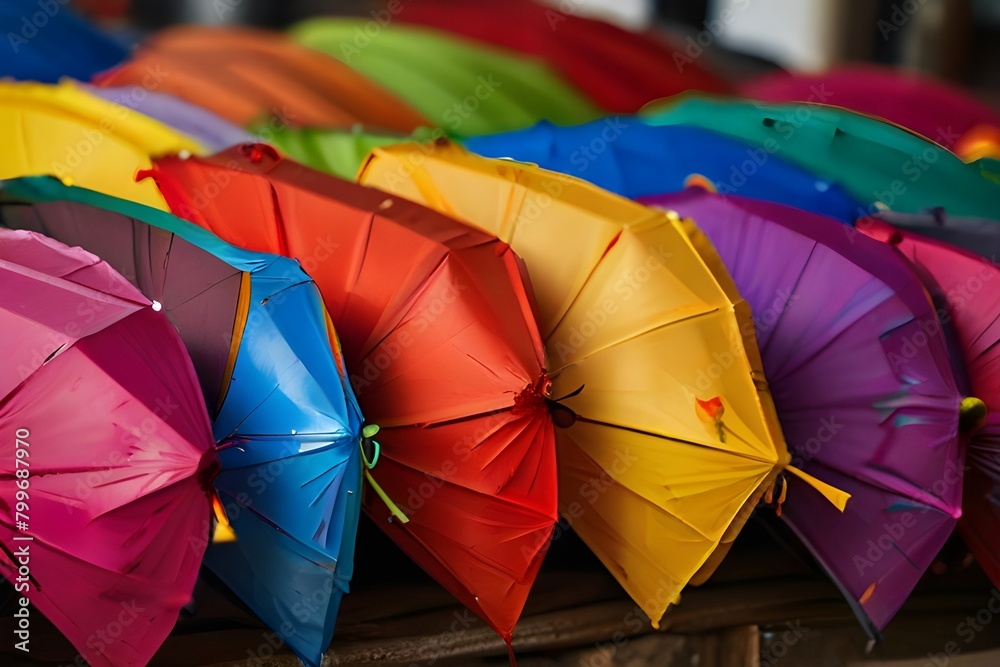
[[[629,198],[699,184],[722,195],[780,202],[850,222],[861,206],[836,183],[762,148],[699,127],[650,126],[631,116],[576,127],[542,122],[463,143],[486,157],[533,162]]]

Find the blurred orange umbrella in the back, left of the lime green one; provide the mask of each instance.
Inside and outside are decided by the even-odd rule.
[[[151,82],[150,77],[155,77]],[[179,26],[157,32],[99,86],[142,86],[198,104],[241,127],[347,127],[409,132],[427,121],[401,99],[284,35],[251,28]],[[151,83],[155,85],[150,85]]]

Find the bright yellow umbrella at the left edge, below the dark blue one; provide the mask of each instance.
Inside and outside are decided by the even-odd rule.
[[[136,86],[135,94],[144,89]],[[77,88],[0,82],[0,179],[55,176],[66,185],[168,211],[150,180],[135,174],[150,158],[204,152],[170,127]]]

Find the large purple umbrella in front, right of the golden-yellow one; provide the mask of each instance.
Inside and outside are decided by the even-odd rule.
[[[877,635],[961,513],[962,396],[933,304],[834,220],[697,188],[648,201],[697,220],[749,301],[792,461],[850,492],[838,514],[791,479],[781,516]]]

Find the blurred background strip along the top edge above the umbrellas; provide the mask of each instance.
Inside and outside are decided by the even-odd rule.
[[[773,68],[818,71],[866,61],[900,65],[968,86],[1000,105],[996,0],[547,0],[567,13],[657,28],[731,79]],[[74,0],[124,40],[172,23],[283,28],[322,14],[368,16],[376,0]],[[709,39],[710,37],[710,39]],[[697,41],[695,43],[698,43]]]

